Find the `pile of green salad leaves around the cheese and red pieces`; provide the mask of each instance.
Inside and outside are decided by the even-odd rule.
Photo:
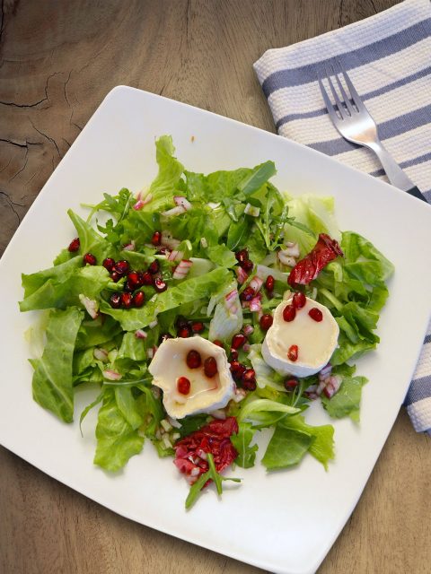
[[[254,370],[255,389],[242,388],[237,381],[242,400],[224,409],[238,424],[230,437],[237,453],[234,463],[255,465],[256,432],[271,429],[261,459],[268,471],[297,465],[306,453],[327,468],[334,457],[333,427],[308,424],[306,409],[317,398],[330,417],[359,420],[366,380],[356,376],[351,361],[379,342],[375,330],[388,297],[391,263],[356,232],[339,230],[332,198],[282,196],[269,181],[276,174],[272,161],[203,175],[184,169],[174,157],[170,136],[160,137],[155,146],[159,171],[145,192],[104,194],[100,204],[90,206],[86,221],[70,210],[78,249],[64,248],[52,267],[22,275],[20,309],[47,309],[34,329],[44,337],[43,352],[31,359],[34,400],[72,422],[75,393],[84,386],[99,387],[81,422],[99,407],[94,463],[107,471],[126,465],[142,450],[145,438],[161,457],[174,457],[176,443],[213,417],[190,415],[173,425],[167,417],[148,371],[163,336],[177,336],[179,320],[187,319],[190,325],[202,325],[200,336],[220,340],[229,357],[233,335],[246,332],[248,342],[238,350],[238,361]],[[179,202],[185,205],[182,210]],[[157,233],[159,243],[154,241]],[[339,242],[344,257],[331,261],[300,289],[328,307],[339,325],[339,346],[330,366],[340,387],[330,397],[312,392],[318,375],[285,386],[286,377],[272,370],[260,352],[265,331],[259,317],[271,314],[290,289],[286,281],[292,265],[282,263],[278,253],[295,245],[299,258],[305,257],[321,233]],[[235,257],[242,249],[252,262],[245,281],[239,281]],[[170,258],[172,253],[191,262],[188,274],[175,274],[179,260]],[[85,264],[86,254],[92,254],[94,265]],[[107,259],[127,261],[140,273],[156,261],[163,289],[143,284],[143,305],[114,306],[112,294],[126,289],[128,279],[115,277],[109,265],[102,265]],[[274,278],[273,290],[260,289],[258,311],[244,304],[226,307],[227,293],[238,291],[240,300],[254,276],[265,279],[268,274]],[[214,453],[208,455],[207,472],[192,486],[188,507],[207,480],[221,491]]]

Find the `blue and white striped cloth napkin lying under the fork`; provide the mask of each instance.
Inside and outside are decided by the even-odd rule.
[[[317,74],[339,60],[379,125],[386,148],[431,203],[431,3],[405,0],[383,13],[287,48],[254,64],[279,135],[386,180],[374,154],[330,121]],[[431,323],[405,404],[431,434]]]

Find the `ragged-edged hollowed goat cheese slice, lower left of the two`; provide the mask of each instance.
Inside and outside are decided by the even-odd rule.
[[[190,351],[200,354],[202,364],[190,369],[187,355]],[[214,357],[217,372],[207,377],[204,362]],[[212,413],[224,408],[234,396],[235,384],[224,349],[201,336],[166,339],[154,354],[148,370],[153,384],[163,390],[163,405],[172,419],[182,419],[189,414]],[[189,392],[181,394],[180,378],[189,379]]]

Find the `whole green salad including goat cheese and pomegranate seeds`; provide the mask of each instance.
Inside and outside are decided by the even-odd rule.
[[[93,388],[78,416],[98,409],[94,464],[119,471],[148,439],[187,478],[186,508],[208,483],[238,482],[228,466],[256,464],[263,429],[268,471],[308,455],[328,468],[333,427],[309,424],[307,408],[359,421],[354,361],[379,343],[391,263],[339,230],[331,197],[281,194],[272,161],[204,175],[175,158],[170,136],[155,148],[149,187],[104,194],[86,220],[69,210],[75,239],[52,267],[22,274],[20,309],[44,309],[30,333],[44,343],[30,360],[34,400],[71,423],[75,393]],[[301,362],[294,335],[283,351],[278,316],[279,333],[306,319],[311,349],[332,321],[323,364]]]

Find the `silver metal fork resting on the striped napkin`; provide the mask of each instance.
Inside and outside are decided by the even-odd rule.
[[[321,88],[321,95],[323,96],[323,100],[325,100],[326,108],[330,114],[330,119],[338,129],[339,134],[349,142],[358,143],[373,150],[382,163],[383,170],[385,170],[392,186],[398,187],[402,189],[402,191],[407,191],[411,196],[418,197],[418,199],[427,202],[427,199],[420,193],[418,187],[407,177],[398,163],[384,148],[383,143],[379,139],[377,126],[373,117],[370,116],[368,110],[365,108],[355,86],[351,83],[341,63],[339,61],[337,63],[339,65],[339,72],[336,71],[333,65],[331,65],[331,73],[329,68],[326,67],[326,78],[325,76],[319,75],[318,81]],[[342,74],[344,77],[347,89],[350,92],[349,95],[347,95],[343,83],[341,83],[339,74]],[[335,77],[338,91],[331,80],[331,76]],[[335,105],[332,104],[328,91],[326,91],[323,85],[324,79],[329,83]]]

